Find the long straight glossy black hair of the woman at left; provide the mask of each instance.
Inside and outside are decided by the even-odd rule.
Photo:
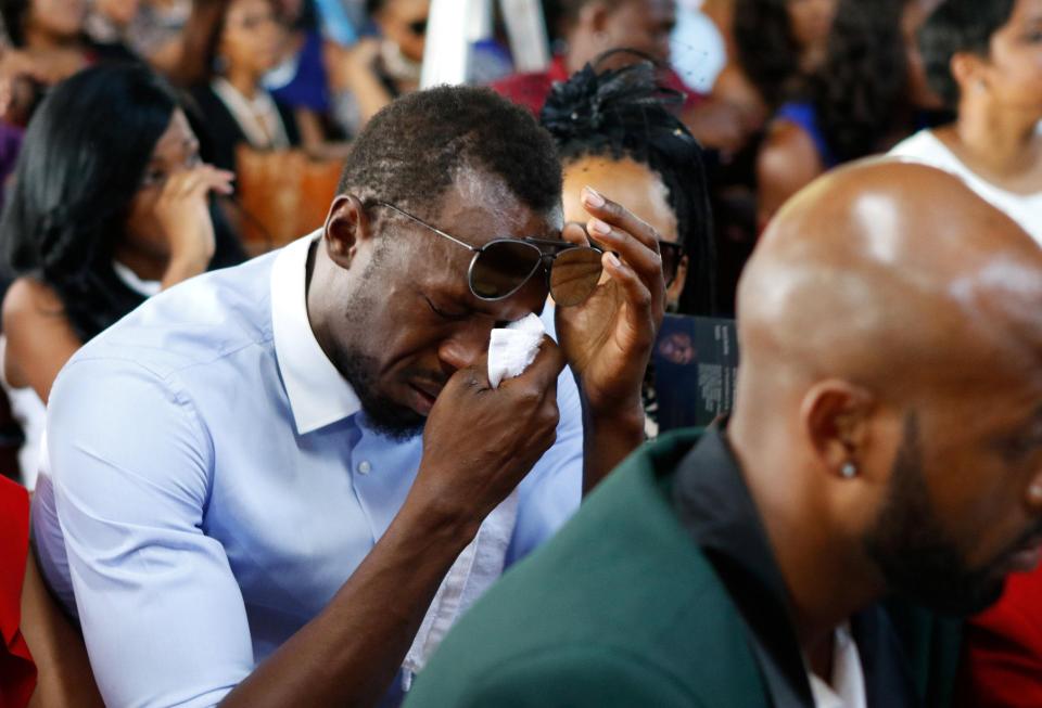
[[[113,253],[177,106],[145,66],[106,65],[55,86],[29,121],[0,221],[3,266],[52,287],[84,340],[144,299]]]

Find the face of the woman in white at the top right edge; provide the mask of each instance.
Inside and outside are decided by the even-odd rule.
[[[1009,21],[991,36],[977,81],[1000,105],[1042,118],[1042,0],[1017,0]],[[976,87],[963,87],[973,93]]]

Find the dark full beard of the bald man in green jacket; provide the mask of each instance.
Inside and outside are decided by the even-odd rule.
[[[864,544],[891,592],[938,613],[975,615],[1002,595],[1005,577],[1000,566],[1009,555],[1004,553],[983,568],[970,569],[941,528],[923,476],[914,413],[904,421],[887,499]]]

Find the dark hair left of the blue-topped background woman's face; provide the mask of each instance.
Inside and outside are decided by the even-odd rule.
[[[788,0],[737,0],[734,36],[738,63],[760,95],[777,107],[797,89],[800,48]]]

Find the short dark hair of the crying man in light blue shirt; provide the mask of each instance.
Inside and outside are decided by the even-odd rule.
[[[525,108],[469,86],[414,91],[380,111],[355,139],[339,192],[434,218],[466,168],[501,179],[536,213],[560,208],[554,139]]]

